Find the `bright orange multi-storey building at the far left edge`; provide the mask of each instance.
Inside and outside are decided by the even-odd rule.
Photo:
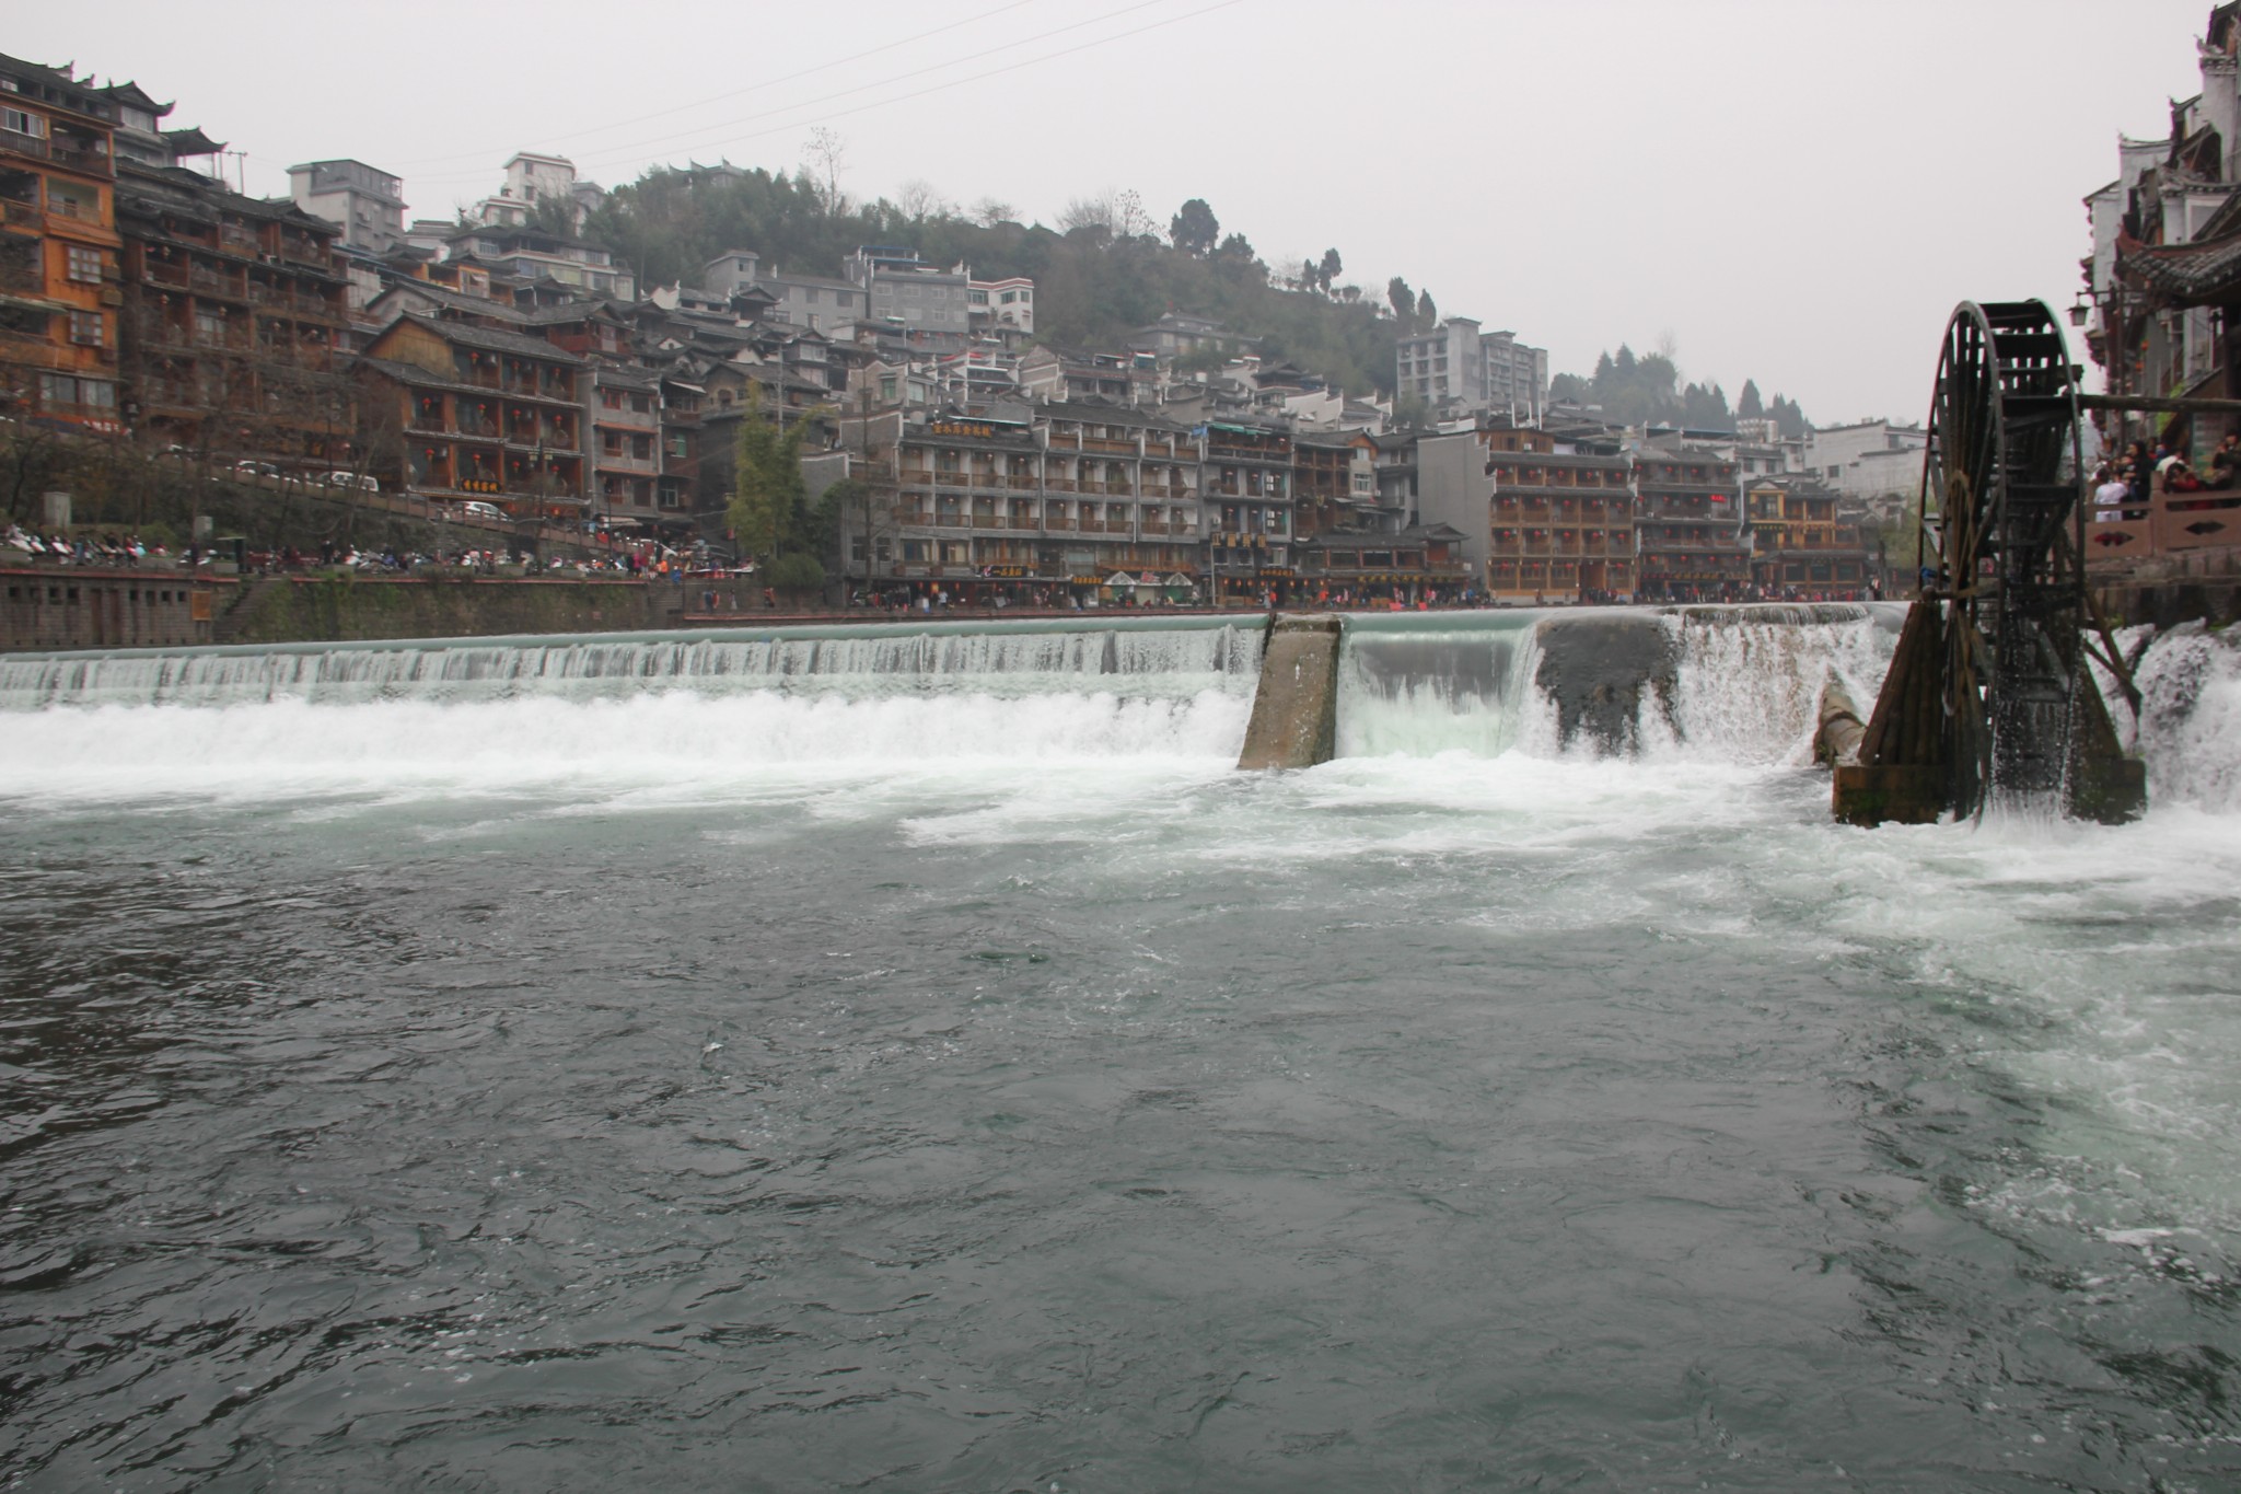
[[[0,410],[114,432],[117,103],[0,56]]]

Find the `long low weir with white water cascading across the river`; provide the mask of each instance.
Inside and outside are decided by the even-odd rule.
[[[18,654],[0,659],[0,710],[16,715],[0,771],[515,782],[688,779],[704,764],[1147,755],[1309,768],[1517,753],[1800,768],[1835,757],[1849,782],[1860,768],[1842,762],[1847,726],[1882,694],[1905,616],[1490,609]],[[2219,732],[2241,719],[2234,647],[2207,629],[2174,634],[2140,670],[2145,715],[2133,726],[2124,712],[2111,741],[2160,759],[2165,791],[2241,793],[2228,784],[2241,773],[2201,766],[2232,757]],[[1896,739],[1903,721],[1880,730]]]

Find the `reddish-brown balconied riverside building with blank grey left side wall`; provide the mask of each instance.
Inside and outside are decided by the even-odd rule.
[[[1634,464],[1616,441],[1486,423],[1423,437],[1416,452],[1423,520],[1461,531],[1463,560],[1490,598],[1634,598]]]

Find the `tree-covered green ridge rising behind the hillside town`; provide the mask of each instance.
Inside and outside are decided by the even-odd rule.
[[[1185,202],[1161,231],[1134,193],[1107,193],[1069,202],[1053,228],[1017,222],[1002,202],[957,208],[928,186],[905,188],[903,202],[852,202],[834,170],[820,179],[809,168],[654,168],[610,193],[585,235],[614,249],[643,287],[697,284],[728,249],[755,251],[764,269],[836,276],[858,244],[901,244],[934,264],[970,264],[982,280],[1033,278],[1038,343],[1118,349],[1163,311],[1185,311],[1360,396],[1392,394],[1394,340],[1439,323],[1430,291],[1403,278],[1380,293],[1347,282],[1338,249],[1298,267],[1266,264],[1244,233],[1224,233],[1203,199]],[[1759,412],[1750,383],[1735,412],[1717,383],[1676,385],[1672,358],[1620,347],[1591,379],[1560,374],[1555,394],[1600,403],[1614,421],[1732,428],[1737,414]],[[1782,399],[1766,414],[1804,419]]]

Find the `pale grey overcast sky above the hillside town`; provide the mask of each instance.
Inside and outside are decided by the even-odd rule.
[[[359,157],[417,215],[515,150],[923,179],[1051,222],[1206,197],[1271,264],[1336,246],[1587,372],[1670,343],[1820,423],[1914,419],[1963,298],[2077,291],[2116,137],[2201,85],[2207,0],[110,0],[0,47],[177,99],[253,193]],[[802,267],[811,269],[811,267]],[[816,267],[829,271],[831,267]],[[2077,349],[2082,358],[2082,349]]]

